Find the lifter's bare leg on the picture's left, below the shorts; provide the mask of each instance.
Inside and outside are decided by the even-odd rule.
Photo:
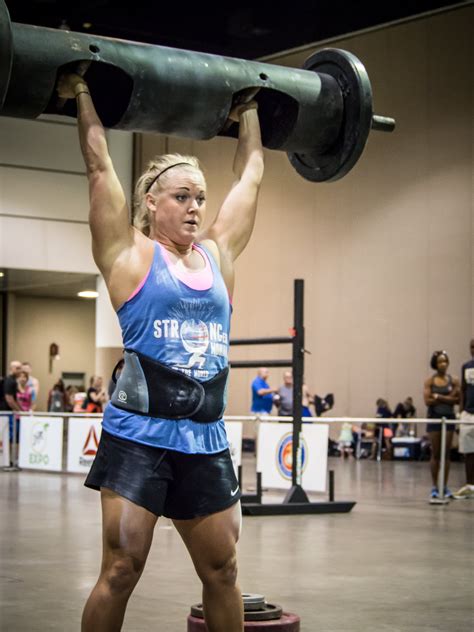
[[[102,568],[82,615],[82,632],[118,632],[145,566],[157,517],[101,489]]]

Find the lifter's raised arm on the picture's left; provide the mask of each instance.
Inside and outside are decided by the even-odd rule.
[[[79,140],[89,180],[92,253],[107,281],[113,263],[133,243],[127,201],[84,78],[63,75],[57,90],[62,98],[76,99]]]

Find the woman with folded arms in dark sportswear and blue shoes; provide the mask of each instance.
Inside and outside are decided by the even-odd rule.
[[[459,402],[459,380],[448,373],[449,357],[446,351],[435,351],[431,356],[430,366],[434,374],[425,380],[424,384],[424,400],[428,406],[428,419],[455,419],[454,406]],[[453,441],[453,432],[455,424],[447,424],[446,426],[446,465],[444,496],[452,498],[452,492],[447,487],[449,476],[449,455],[451,452],[451,443]],[[426,430],[431,442],[431,478],[433,487],[431,489],[431,498],[439,498],[438,474],[441,459],[441,426],[439,423],[429,423]]]

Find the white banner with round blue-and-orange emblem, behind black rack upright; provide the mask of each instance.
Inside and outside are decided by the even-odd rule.
[[[300,443],[302,487],[309,492],[326,491],[329,426],[303,424]],[[262,486],[291,487],[293,465],[293,424],[262,422],[258,431],[257,472]]]

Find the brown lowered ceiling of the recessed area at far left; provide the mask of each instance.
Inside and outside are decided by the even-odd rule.
[[[0,270],[0,292],[13,292],[20,296],[46,296],[49,298],[75,298],[83,290],[95,290],[97,275],[49,270]]]

